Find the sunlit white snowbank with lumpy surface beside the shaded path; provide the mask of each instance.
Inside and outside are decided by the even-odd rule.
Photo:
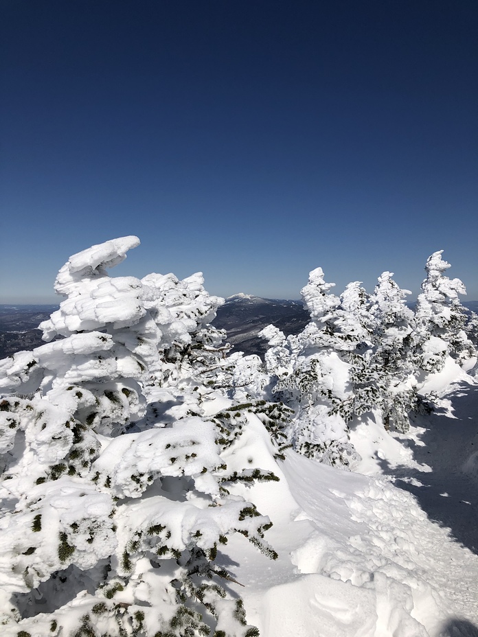
[[[449,441],[454,434],[457,441],[462,436],[459,423]],[[386,432],[383,440],[389,459],[398,461],[401,444]],[[375,443],[376,455],[383,455]],[[244,454],[271,467],[269,441],[255,419],[243,444]],[[413,471],[411,454],[403,456]],[[273,521],[269,542],[280,557],[266,560],[234,538],[243,558],[229,564],[245,587],[236,589],[248,619],[263,637],[478,634],[478,556],[433,522],[407,490],[387,476],[345,472],[291,451],[274,471],[280,483],[239,491]],[[446,509],[449,500],[440,500]],[[475,499],[475,512],[476,505]],[[476,526],[470,530],[476,533]]]

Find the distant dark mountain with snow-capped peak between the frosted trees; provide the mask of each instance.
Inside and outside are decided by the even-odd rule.
[[[227,331],[232,351],[264,356],[266,342],[257,336],[263,327],[273,323],[288,336],[301,332],[309,321],[310,316],[302,301],[234,294],[218,308],[213,325]]]

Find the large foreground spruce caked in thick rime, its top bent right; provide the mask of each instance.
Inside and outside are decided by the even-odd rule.
[[[221,555],[240,533],[276,557],[269,518],[230,491],[277,478],[231,454],[255,416],[218,387],[222,299],[201,273],[110,277],[137,244],[73,255],[47,343],[0,362],[7,637],[258,634]]]

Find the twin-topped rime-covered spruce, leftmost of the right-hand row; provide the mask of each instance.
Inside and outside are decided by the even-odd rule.
[[[330,294],[333,286],[321,268],[312,270],[301,290],[311,319],[303,332],[286,338],[273,325],[260,332],[269,343],[264,364],[269,380],[262,385],[264,398],[285,404],[291,413],[280,430],[271,431],[280,450],[291,446],[330,465],[349,465],[357,454],[337,406],[352,396],[348,357],[365,334],[358,311],[363,289],[351,283],[342,304]]]

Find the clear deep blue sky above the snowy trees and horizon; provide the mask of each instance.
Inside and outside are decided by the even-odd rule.
[[[0,298],[113,274],[298,298],[444,249],[478,299],[476,0],[3,0]]]

